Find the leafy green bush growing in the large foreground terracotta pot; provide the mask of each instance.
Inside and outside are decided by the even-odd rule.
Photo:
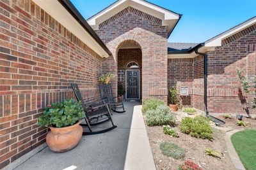
[[[78,120],[84,117],[81,101],[75,103],[74,99],[65,99],[63,102],[47,105],[43,114],[38,118],[37,125],[67,127],[76,124]]]

